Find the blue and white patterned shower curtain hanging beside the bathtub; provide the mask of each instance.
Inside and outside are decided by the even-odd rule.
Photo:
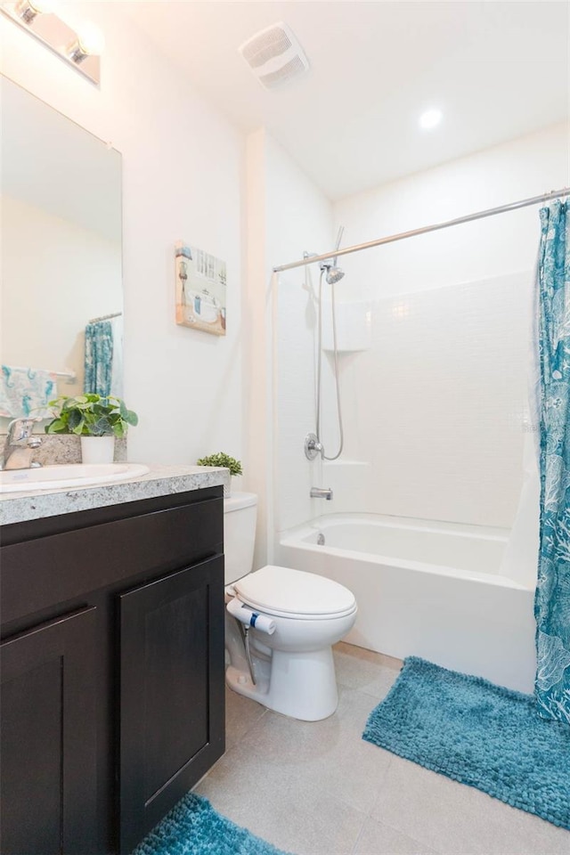
[[[570,216],[541,210],[538,264],[541,368],[541,546],[535,694],[544,718],[570,724]]]

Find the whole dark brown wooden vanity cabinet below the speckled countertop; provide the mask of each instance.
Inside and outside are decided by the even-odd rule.
[[[6,525],[3,855],[126,853],[224,753],[222,487]]]

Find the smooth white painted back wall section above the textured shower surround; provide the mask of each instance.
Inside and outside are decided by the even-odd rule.
[[[373,240],[565,186],[569,128],[559,124],[341,199],[345,244]],[[538,207],[454,226],[343,258],[351,299],[392,297],[525,270],[538,247]],[[347,284],[347,283],[346,283]]]

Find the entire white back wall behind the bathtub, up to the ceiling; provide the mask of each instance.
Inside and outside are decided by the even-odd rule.
[[[569,175],[567,127],[553,126],[343,199],[335,218],[356,244],[561,188]],[[371,348],[341,356],[345,456],[368,466],[326,467],[327,510],[512,524],[538,240],[534,207],[342,259],[340,299],[371,311]],[[330,425],[330,372],[326,392]]]

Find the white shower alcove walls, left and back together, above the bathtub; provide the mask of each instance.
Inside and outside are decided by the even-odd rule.
[[[325,251],[339,224],[345,245],[355,244],[566,186],[567,131],[548,127],[342,199],[335,222],[321,191],[273,146],[267,261]],[[340,260],[346,445],[333,463],[309,463],[303,454],[305,433],[314,430],[318,270],[281,275],[268,385],[273,448],[259,467],[273,484],[270,532],[272,524],[280,532],[345,511],[512,524],[530,436],[527,296],[538,230],[538,207],[526,208]],[[331,369],[325,324],[328,452],[338,443]],[[309,499],[312,485],[331,486],[333,501]]]

